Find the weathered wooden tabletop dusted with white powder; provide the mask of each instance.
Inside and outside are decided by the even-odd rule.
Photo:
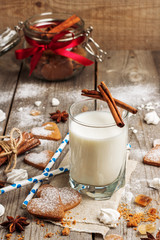
[[[0,135],[8,134],[13,127],[18,127],[22,131],[29,131],[33,126],[40,126],[49,121],[49,113],[57,109],[67,110],[74,101],[81,99],[81,89],[94,89],[100,81],[105,81],[114,97],[125,100],[133,106],[140,106],[148,102],[160,102],[160,53],[150,51],[111,51],[103,63],[98,63],[85,70],[77,77],[62,82],[46,82],[28,76],[28,71],[23,64],[15,60],[14,51],[0,57],[0,109],[6,113],[6,119],[0,122]],[[56,97],[60,100],[58,107],[52,107],[51,100]],[[30,116],[31,109],[35,109],[34,102],[42,102],[38,109],[41,115]],[[22,111],[20,111],[22,108]],[[144,122],[145,109],[139,110],[136,116],[129,119],[129,127],[134,127],[137,133],[129,130],[129,142],[132,145],[130,159],[138,162],[136,170],[133,172],[129,185],[126,186],[128,192],[134,196],[146,194],[152,197],[153,206],[157,209],[160,206],[159,192],[148,187],[147,179],[160,177],[158,167],[144,165],[142,162],[144,154],[151,149],[153,139],[160,138],[160,124],[147,125]],[[156,108],[160,116],[160,107]],[[68,121],[59,123],[62,137],[68,131]],[[60,144],[48,141],[42,144],[35,151],[43,149],[55,151]],[[68,147],[60,156],[55,164],[57,167],[68,151]],[[27,169],[29,176],[40,173],[39,170],[28,166],[23,162],[24,155],[18,157],[17,168]],[[3,178],[4,167],[1,167],[1,178]],[[12,191],[0,196],[0,203],[5,206],[6,216],[27,215],[30,225],[26,228],[23,235],[25,240],[44,239],[46,229],[48,232],[61,232],[61,228],[50,223],[45,223],[44,227],[37,225],[35,221],[21,208],[21,204],[31,186],[26,186],[16,191]],[[132,203],[132,207],[135,205]],[[160,222],[157,222],[157,229]],[[118,233],[124,239],[140,239],[137,233],[126,227],[124,220],[120,221],[116,229],[110,230],[111,233]],[[0,237],[5,239],[6,231],[0,228]],[[16,234],[11,239],[16,239]],[[55,234],[51,239],[85,239],[100,240],[102,237],[96,234],[71,232],[70,236],[64,237],[60,233]]]

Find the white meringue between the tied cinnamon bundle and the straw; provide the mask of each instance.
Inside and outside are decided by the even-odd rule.
[[[11,172],[6,174],[7,182],[16,183],[22,180],[28,179],[28,173],[25,169],[13,169]]]

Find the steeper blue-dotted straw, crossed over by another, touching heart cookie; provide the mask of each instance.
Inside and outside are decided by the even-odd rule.
[[[50,169],[53,167],[54,163],[56,162],[56,160],[58,159],[58,157],[60,156],[60,154],[62,153],[63,149],[65,148],[65,146],[67,145],[68,142],[69,142],[69,133],[66,134],[65,138],[61,142],[60,146],[58,147],[57,151],[53,155],[52,159],[49,161],[49,163],[47,164],[46,168],[43,170],[43,173],[50,171]],[[37,192],[37,190],[40,187],[41,183],[42,183],[42,181],[36,183],[33,186],[31,191],[29,192],[28,196],[25,198],[24,202],[22,203],[22,208],[26,208],[27,207],[28,202],[33,198],[34,194]]]

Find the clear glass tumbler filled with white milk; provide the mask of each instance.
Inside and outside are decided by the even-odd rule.
[[[106,102],[82,100],[69,110],[70,185],[97,200],[109,199],[125,184],[128,112],[117,127]]]

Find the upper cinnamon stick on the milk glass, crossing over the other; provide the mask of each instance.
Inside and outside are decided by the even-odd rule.
[[[107,95],[107,93],[104,91],[104,89],[102,88],[102,86],[98,86],[98,89],[100,91],[100,93],[102,94],[104,100],[108,103],[109,109],[113,115],[113,118],[117,124],[118,127],[123,127],[124,123],[123,120],[120,117],[120,114],[117,113],[117,110],[115,108],[115,105],[113,104],[113,102],[111,101],[110,97]]]

